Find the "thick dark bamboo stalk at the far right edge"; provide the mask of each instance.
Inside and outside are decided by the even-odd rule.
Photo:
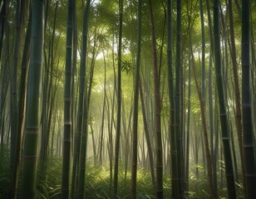
[[[256,195],[256,174],[254,156],[254,133],[251,105],[251,74],[250,74],[250,1],[242,2],[242,114],[244,132],[244,162],[247,198]]]

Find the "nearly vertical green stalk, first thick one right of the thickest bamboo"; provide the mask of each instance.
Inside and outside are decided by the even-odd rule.
[[[62,159],[62,198],[69,198],[70,164],[71,164],[71,66],[72,66],[72,32],[73,2],[68,0],[66,22],[66,66],[64,90],[64,138]]]

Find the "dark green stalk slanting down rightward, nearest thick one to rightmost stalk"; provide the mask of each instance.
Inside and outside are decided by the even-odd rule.
[[[234,187],[234,167],[232,154],[229,144],[229,121],[226,110],[226,99],[224,96],[224,80],[222,75],[221,51],[220,51],[220,33],[219,33],[219,0],[214,0],[214,61],[216,83],[219,96],[219,119],[222,131],[222,141],[224,148],[224,163],[227,188],[229,198],[236,198]]]

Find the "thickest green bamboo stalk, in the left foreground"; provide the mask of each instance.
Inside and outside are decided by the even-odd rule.
[[[32,2],[32,46],[27,87],[26,129],[23,158],[22,198],[36,198],[37,156],[39,136],[39,94],[42,74],[44,38],[44,1]]]

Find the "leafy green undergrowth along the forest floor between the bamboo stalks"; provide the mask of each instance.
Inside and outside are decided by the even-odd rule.
[[[2,148],[0,152],[0,199],[7,198],[7,192],[10,186],[10,171],[9,171],[9,157],[10,153],[7,148]],[[38,199],[59,199],[61,198],[61,184],[62,184],[62,159],[57,157],[48,158],[47,175],[44,182],[37,182],[37,198]],[[21,168],[22,169],[22,168]],[[118,198],[130,198],[130,172],[125,174],[125,169],[122,164],[119,168],[118,177]],[[222,171],[224,172],[224,171]],[[185,198],[188,199],[206,199],[209,198],[208,182],[204,177],[203,168],[199,170],[199,177],[194,174],[194,167],[190,171],[190,192],[185,192]],[[220,173],[217,173],[220,179]],[[39,175],[37,175],[40,178]],[[21,179],[21,177],[19,177]],[[113,184],[110,183],[109,167],[94,167],[91,160],[87,161],[86,166],[86,183],[85,192],[86,198],[96,199],[105,198],[111,199],[111,190]],[[21,185],[21,181],[19,185]],[[171,180],[169,176],[164,176],[164,198],[171,198],[170,189]],[[21,187],[21,186],[19,186]],[[243,197],[243,187],[236,183],[236,191],[238,198]],[[219,198],[228,198],[226,185],[219,182],[218,187]],[[150,172],[143,168],[138,169],[137,172],[137,194],[138,199],[153,199],[154,188],[151,183]],[[18,189],[18,197],[20,198],[20,189]]]

